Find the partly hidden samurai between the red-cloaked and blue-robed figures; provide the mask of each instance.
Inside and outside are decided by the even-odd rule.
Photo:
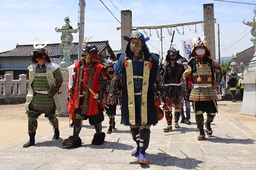
[[[108,58],[105,63],[107,86],[104,104],[106,106],[106,114],[108,114],[109,118],[108,134],[111,134],[113,129],[115,129],[116,105],[120,104],[120,91],[122,89],[120,79],[116,79],[114,64],[115,62],[113,62],[110,58]]]

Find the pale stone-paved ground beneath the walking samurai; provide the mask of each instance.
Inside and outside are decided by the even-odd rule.
[[[22,148],[26,139],[0,150],[0,169],[256,169],[256,133],[229,116],[232,109],[238,114],[241,103],[230,104],[219,104],[219,113],[212,123],[213,135],[206,136],[205,141],[196,140],[198,130],[193,110],[191,125],[179,123],[180,128],[173,127],[173,132],[164,133],[166,122],[159,121],[150,128],[146,165],[138,164],[138,157],[131,156],[136,145],[129,127],[118,124],[118,110],[116,129],[114,133],[106,134],[101,146],[91,144],[94,127],[83,121],[80,134],[83,145],[80,148],[63,147],[63,139],[72,134],[72,128],[63,125],[60,127],[61,139],[56,141],[51,140],[52,131],[49,131],[36,135],[35,146]],[[107,132],[107,116],[102,128]]]

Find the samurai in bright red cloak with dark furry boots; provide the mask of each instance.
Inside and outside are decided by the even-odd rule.
[[[73,135],[63,141],[64,146],[81,146],[79,133],[82,121],[87,119],[96,130],[92,144],[103,144],[105,139],[101,122],[104,120],[102,101],[106,88],[106,71],[104,65],[100,63],[96,45],[87,44],[82,50],[81,61],[76,63],[74,68],[74,81],[70,89],[70,98],[75,109],[74,130]]]

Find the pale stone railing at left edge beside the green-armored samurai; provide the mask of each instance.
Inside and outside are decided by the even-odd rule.
[[[0,96],[26,95],[28,92],[26,74],[20,74],[19,77],[19,80],[12,80],[11,74],[5,74],[4,79],[0,80]]]

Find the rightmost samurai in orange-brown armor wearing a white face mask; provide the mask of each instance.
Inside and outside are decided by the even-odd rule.
[[[205,38],[205,37],[204,37]],[[183,73],[185,89],[188,92],[188,78],[192,75],[192,90],[189,100],[192,101],[196,125],[200,131],[198,141],[204,141],[204,112],[207,113],[205,128],[207,135],[212,135],[211,123],[218,112],[216,88],[220,83],[220,64],[211,58],[211,52],[205,47],[207,42],[198,37],[191,45],[193,51]]]

